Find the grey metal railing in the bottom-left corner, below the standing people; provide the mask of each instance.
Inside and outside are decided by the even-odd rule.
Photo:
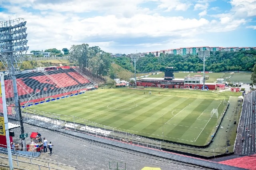
[[[2,145],[2,144],[1,144],[1,146],[6,146],[6,145]],[[6,146],[6,147],[7,147],[7,146]],[[1,147],[1,149],[2,149],[2,150],[5,150],[6,152],[0,150],[0,153],[7,153],[7,152],[8,152],[6,148],[2,148],[2,147]],[[16,149],[18,149],[18,148],[15,148],[15,150],[16,150]],[[38,165],[38,164],[36,164],[36,163],[32,163],[32,160],[34,160],[34,161],[44,162],[44,163],[48,164],[48,167],[47,167],[47,166],[44,166],[44,165],[39,165],[39,167],[38,167],[39,170],[40,170],[40,166],[44,166],[44,167],[46,167],[46,168],[49,168],[49,170],[50,170],[50,168],[52,168],[52,167],[50,167],[50,164],[57,165],[58,168],[59,168],[59,166],[68,166],[68,167],[72,167],[72,168],[74,168],[74,169],[76,170],[76,166],[71,166],[71,165],[66,165],[66,164],[60,164],[60,163],[58,162],[58,160],[52,160],[52,159],[40,158],[40,157],[38,157],[38,158],[40,158],[40,159],[31,158],[31,157],[28,156],[28,155],[20,154],[20,153],[18,153],[18,152],[15,152],[15,150],[12,151],[12,155],[13,155],[13,156],[16,156],[16,159],[15,159],[15,160],[16,160],[16,162],[17,162],[17,166],[19,166],[19,161],[20,161],[20,162],[25,162],[25,161],[22,161],[22,160],[18,160],[18,156],[19,156],[19,157],[23,157],[23,158],[28,158],[28,159],[30,160],[30,162],[25,162],[25,163]],[[33,149],[32,149],[32,155],[33,155]],[[6,158],[6,157],[0,156],[0,158]],[[7,159],[8,159],[8,158],[7,158]],[[48,162],[48,161],[45,161],[45,160],[50,160],[50,161],[52,161],[52,162]],[[55,163],[55,162],[57,162],[57,163]],[[58,168],[52,168],[52,169],[57,169],[57,170],[58,170]]]

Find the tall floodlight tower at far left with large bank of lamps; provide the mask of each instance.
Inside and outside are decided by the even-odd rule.
[[[23,18],[15,20],[0,21],[0,60],[2,61],[8,76],[12,79],[14,100],[7,101],[15,104],[15,117],[19,120],[18,90],[16,75],[20,70],[21,59],[28,50],[26,21]]]

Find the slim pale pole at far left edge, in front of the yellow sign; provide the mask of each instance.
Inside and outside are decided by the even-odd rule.
[[[6,105],[6,98],[5,98],[6,95],[5,95],[5,86],[4,86],[4,73],[0,73],[0,81],[1,81],[3,112],[4,112],[4,130],[5,130],[5,136],[6,136],[9,167],[10,167],[10,170],[13,170],[12,150],[11,150],[11,145],[10,145],[10,135],[9,135],[8,117],[7,117],[7,105]]]

